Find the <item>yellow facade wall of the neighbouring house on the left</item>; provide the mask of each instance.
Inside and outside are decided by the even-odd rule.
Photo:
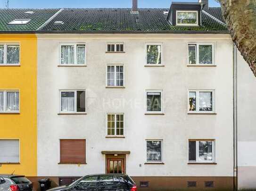
[[[20,91],[20,114],[0,114],[0,139],[20,139],[20,164],[2,164],[0,174],[37,176],[37,38],[0,34],[0,42],[20,43],[20,66],[0,66],[0,89]]]

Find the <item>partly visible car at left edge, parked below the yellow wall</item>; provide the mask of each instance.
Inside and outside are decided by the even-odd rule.
[[[33,184],[25,176],[0,175],[0,191],[33,191]]]

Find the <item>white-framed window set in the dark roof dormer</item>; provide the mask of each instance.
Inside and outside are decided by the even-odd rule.
[[[198,11],[176,11],[176,25],[198,26]]]

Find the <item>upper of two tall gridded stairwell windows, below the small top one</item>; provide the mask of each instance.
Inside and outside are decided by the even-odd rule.
[[[124,65],[107,64],[107,87],[124,86]]]

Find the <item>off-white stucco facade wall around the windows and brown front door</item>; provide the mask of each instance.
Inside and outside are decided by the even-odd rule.
[[[87,67],[58,67],[67,41],[86,43]],[[125,53],[105,53],[108,41],[124,42]],[[164,43],[165,67],[144,67],[145,43],[154,41]],[[187,67],[191,41],[215,42],[217,66]],[[106,63],[124,63],[125,89],[106,89]],[[87,115],[58,115],[59,89],[86,89]],[[144,115],[146,89],[164,91],[165,115]],[[188,115],[188,89],[215,89],[217,115]],[[106,112],[124,113],[125,138],[105,138]],[[105,173],[102,150],[131,151],[130,176],[232,176],[232,134],[228,35],[38,35],[38,176]],[[86,139],[86,165],[58,165],[61,138]],[[187,164],[188,139],[200,138],[216,139],[217,165]],[[164,165],[144,165],[145,139],[163,139]]]

